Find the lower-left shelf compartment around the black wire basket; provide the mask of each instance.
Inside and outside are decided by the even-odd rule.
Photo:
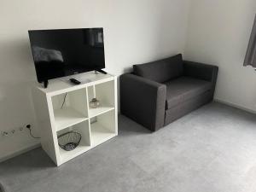
[[[74,157],[83,154],[87,150],[90,149],[90,131],[89,131],[89,121],[86,120],[82,123],[77,125],[73,125],[68,127],[65,130],[58,131],[58,135],[61,135],[68,131],[78,131],[81,134],[81,141],[79,146],[74,148],[72,151],[65,151],[64,149],[60,148],[60,156],[61,156],[61,163],[65,163],[68,160],[72,160]]]

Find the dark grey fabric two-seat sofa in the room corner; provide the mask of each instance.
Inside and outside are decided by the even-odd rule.
[[[134,65],[120,77],[120,110],[151,131],[211,102],[218,67],[182,55]]]

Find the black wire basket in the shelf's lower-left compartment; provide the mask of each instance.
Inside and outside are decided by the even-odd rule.
[[[81,141],[81,134],[76,131],[69,131],[58,137],[58,143],[61,148],[66,151],[72,151],[79,146]]]

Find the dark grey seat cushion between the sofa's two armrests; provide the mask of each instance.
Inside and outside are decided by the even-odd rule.
[[[193,79],[189,77],[181,77],[166,82],[166,108],[173,108],[176,105],[185,102],[195,96],[200,96],[207,90],[211,90],[211,82]]]

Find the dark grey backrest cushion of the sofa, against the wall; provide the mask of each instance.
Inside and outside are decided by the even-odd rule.
[[[160,61],[134,65],[133,73],[163,83],[183,75],[183,57],[178,54]]]

